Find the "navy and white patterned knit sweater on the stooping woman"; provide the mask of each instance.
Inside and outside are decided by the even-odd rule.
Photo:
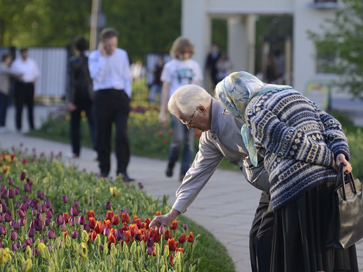
[[[332,152],[349,160],[348,141],[338,120],[295,90],[253,98],[245,117],[258,152],[265,157],[273,211],[335,177]]]

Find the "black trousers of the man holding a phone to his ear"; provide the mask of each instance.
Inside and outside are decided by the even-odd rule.
[[[123,90],[99,90],[94,96],[94,118],[96,127],[97,152],[101,175],[110,172],[112,123],[116,131],[117,174],[126,173],[130,160],[129,140],[127,139],[127,118],[130,111],[129,96]]]

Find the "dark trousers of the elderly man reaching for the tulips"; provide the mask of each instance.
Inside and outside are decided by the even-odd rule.
[[[269,272],[274,228],[274,213],[268,209],[270,193],[262,191],[249,234],[252,272]]]

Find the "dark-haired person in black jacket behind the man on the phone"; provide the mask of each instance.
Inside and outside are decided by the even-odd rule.
[[[69,109],[71,111],[70,134],[73,158],[79,157],[80,151],[80,120],[81,112],[85,111],[90,129],[93,149],[96,150],[95,126],[92,114],[92,79],[88,69],[88,58],[85,51],[88,42],[80,36],[74,40],[76,56],[69,60]]]

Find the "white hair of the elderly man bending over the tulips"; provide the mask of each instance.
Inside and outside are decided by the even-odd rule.
[[[172,115],[178,114],[185,118],[193,114],[198,106],[208,107],[212,96],[197,85],[180,86],[168,102],[168,110]]]

